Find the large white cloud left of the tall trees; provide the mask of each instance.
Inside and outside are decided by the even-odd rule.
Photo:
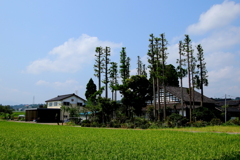
[[[109,46],[112,50],[121,47],[120,43],[100,41],[97,37],[83,34],[78,39],[71,38],[64,44],[53,48],[48,57],[33,61],[28,67],[28,73],[76,72],[94,59],[95,48]]]

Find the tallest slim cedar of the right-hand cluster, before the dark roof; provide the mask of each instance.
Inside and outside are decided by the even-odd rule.
[[[188,94],[189,94],[189,112],[190,112],[190,122],[192,122],[192,92],[191,92],[191,39],[189,35],[185,35],[184,39],[184,52],[187,57],[187,69],[188,69]]]

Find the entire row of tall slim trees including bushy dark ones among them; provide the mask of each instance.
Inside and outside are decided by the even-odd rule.
[[[183,88],[183,78],[186,76],[188,77],[190,120],[195,105],[194,88],[201,89],[201,106],[203,106],[203,86],[206,86],[208,81],[206,62],[201,45],[197,46],[197,56],[195,57],[191,39],[188,35],[185,35],[184,42],[179,42],[179,59],[176,69],[173,65],[167,64],[167,45],[165,34],[160,34],[159,37],[150,35],[147,53],[149,79],[147,78],[146,66],[139,56],[137,75],[130,76],[130,58],[127,56],[125,47],[120,52],[120,65],[117,62],[110,61],[110,47],[96,47],[94,75],[98,78],[98,90],[93,80],[90,79],[87,84],[86,98],[89,101],[89,106],[94,105],[99,112],[103,113],[103,121],[109,119],[106,118],[108,114],[106,106],[111,106],[107,105],[107,103],[111,103],[108,98],[108,86],[112,92],[112,101],[117,100],[117,91],[122,95],[121,110],[127,117],[140,116],[142,108],[146,107],[146,102],[152,101],[153,119],[164,121],[167,116],[166,86],[179,86],[178,79],[180,79],[180,87]],[[102,74],[104,78],[102,78]],[[121,83],[118,82],[119,78]],[[105,87],[101,87],[101,83],[104,83]],[[105,97],[102,97],[103,91],[105,91]],[[183,102],[183,89],[181,89],[182,114]],[[109,110],[109,107],[107,108]],[[115,111],[116,109],[111,110],[112,117],[116,115]]]

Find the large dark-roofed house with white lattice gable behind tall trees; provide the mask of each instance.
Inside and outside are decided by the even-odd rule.
[[[178,111],[179,114],[182,115],[182,107],[181,107],[181,87],[171,87],[166,86],[166,104],[167,108],[170,108],[172,111]],[[153,103],[153,102],[152,102]],[[158,96],[156,94],[156,103],[158,103]],[[194,90],[194,104],[192,104],[192,108],[199,108],[201,104],[201,94]],[[164,105],[164,90],[160,89],[160,106]],[[215,107],[215,101],[211,98],[203,96],[203,106],[204,107]],[[189,97],[189,89],[183,87],[183,116],[188,116],[188,109],[190,108],[190,97]]]

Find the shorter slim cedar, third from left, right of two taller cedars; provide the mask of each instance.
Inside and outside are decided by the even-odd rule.
[[[110,80],[110,88],[112,90],[112,100],[117,100],[117,91],[114,89],[114,86],[118,84],[117,78],[118,78],[118,70],[117,70],[117,63],[116,62],[111,62],[111,67],[109,70],[109,78]],[[114,90],[115,90],[115,95],[114,95]]]

